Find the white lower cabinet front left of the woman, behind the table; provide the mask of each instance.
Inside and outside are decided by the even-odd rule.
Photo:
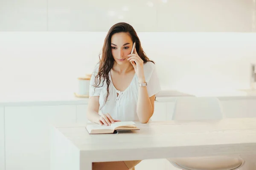
[[[49,170],[49,127],[69,122],[76,105],[6,107],[6,170]]]

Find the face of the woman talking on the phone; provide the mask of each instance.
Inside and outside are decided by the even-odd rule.
[[[120,32],[111,37],[111,52],[119,65],[129,63],[127,55],[131,54],[133,42],[129,33]]]

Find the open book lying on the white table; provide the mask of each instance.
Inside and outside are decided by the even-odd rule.
[[[90,134],[114,133],[117,130],[140,130],[134,122],[114,122],[110,126],[87,125],[86,129]]]

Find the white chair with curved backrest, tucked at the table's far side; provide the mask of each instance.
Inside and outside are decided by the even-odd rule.
[[[215,97],[181,97],[176,100],[173,120],[218,120],[223,119],[220,102]],[[211,156],[167,159],[183,170],[236,170],[244,160],[239,156]]]

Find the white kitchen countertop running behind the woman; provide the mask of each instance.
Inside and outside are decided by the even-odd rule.
[[[215,96],[220,100],[256,99],[256,91],[252,90],[191,90],[180,92],[175,90],[161,91],[157,102],[173,102],[177,97]],[[81,105],[87,104],[88,98],[78,98],[73,91],[23,91],[19,93],[0,91],[0,106],[6,105]]]

